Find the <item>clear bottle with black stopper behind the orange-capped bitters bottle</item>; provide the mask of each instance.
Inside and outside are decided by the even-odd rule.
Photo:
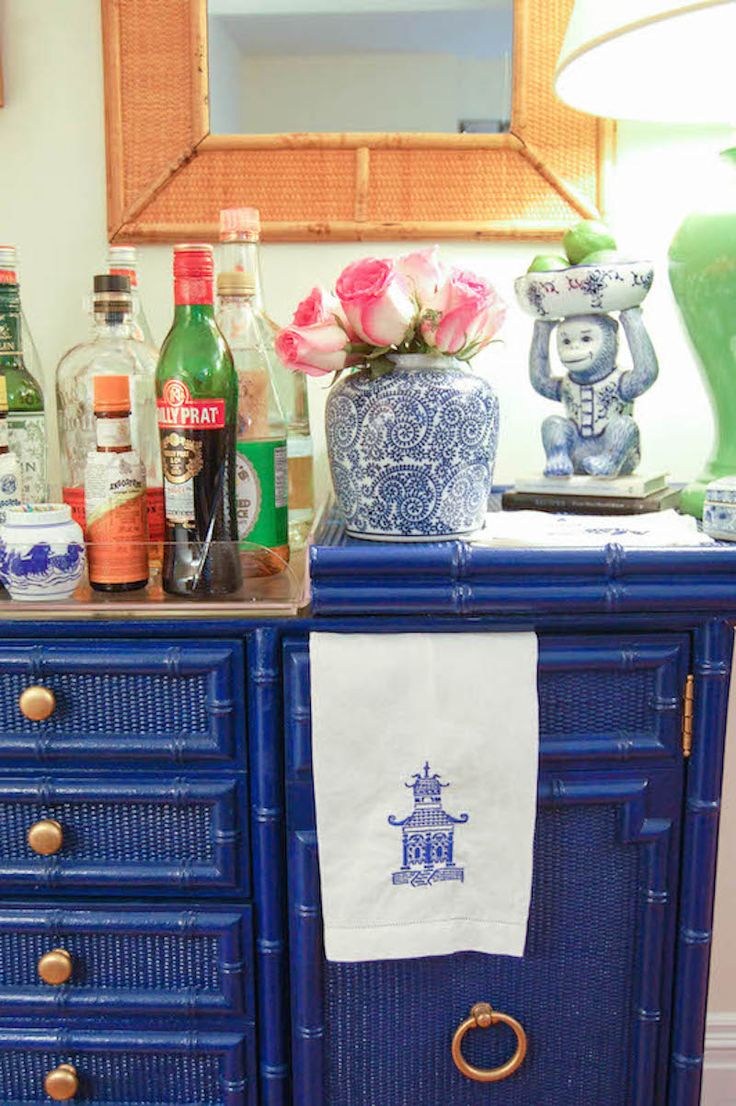
[[[94,278],[93,333],[69,349],[56,368],[62,497],[82,528],[84,469],[96,448],[95,376],[127,376],[131,385],[131,439],[146,470],[148,535],[164,540],[164,491],[156,421],[156,351],[133,335],[133,301],[127,276]],[[155,555],[155,553],[154,553]]]

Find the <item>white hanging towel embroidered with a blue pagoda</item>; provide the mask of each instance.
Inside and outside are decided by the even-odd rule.
[[[537,774],[533,634],[312,634],[329,960],[524,956]]]

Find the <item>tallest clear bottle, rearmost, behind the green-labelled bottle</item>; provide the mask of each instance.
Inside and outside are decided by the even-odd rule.
[[[302,373],[290,373],[273,352],[273,338],[279,327],[269,319],[263,306],[260,229],[257,208],[224,208],[220,211],[220,268],[222,272],[251,273],[256,282],[253,307],[287,419],[289,544],[297,550],[305,544],[314,519],[314,447],[309,425],[307,380]]]

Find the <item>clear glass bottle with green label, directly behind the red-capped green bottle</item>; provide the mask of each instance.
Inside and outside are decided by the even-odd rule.
[[[276,575],[289,560],[287,424],[263,343],[251,273],[217,280],[217,324],[238,374],[238,536],[246,575]],[[266,551],[257,553],[251,543]]]

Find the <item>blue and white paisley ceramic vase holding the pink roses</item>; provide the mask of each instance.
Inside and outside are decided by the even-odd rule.
[[[352,538],[437,541],[483,526],[498,445],[491,386],[445,356],[343,376],[326,403],[338,505]]]

